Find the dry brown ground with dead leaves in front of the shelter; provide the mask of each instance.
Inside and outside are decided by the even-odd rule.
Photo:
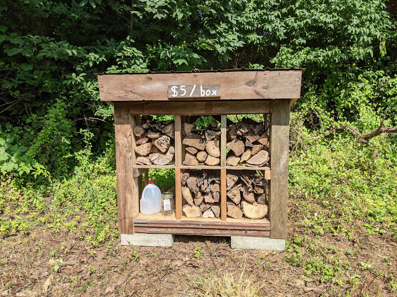
[[[291,219],[282,252],[209,236],[176,236],[171,248],[114,237],[93,248],[77,232],[40,226],[0,240],[0,296],[397,296],[396,239],[338,223],[349,236]]]

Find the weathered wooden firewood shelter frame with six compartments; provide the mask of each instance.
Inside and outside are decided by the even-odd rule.
[[[114,105],[118,227],[120,234],[159,233],[212,236],[287,236],[290,106],[300,97],[304,69],[230,69],[192,72],[98,74],[100,100]],[[175,91],[179,90],[179,93]],[[177,94],[176,94],[177,93]],[[267,167],[226,164],[227,115],[266,114],[270,126]],[[137,165],[132,131],[145,115],[175,116],[175,162]],[[182,123],[212,115],[220,123],[220,164],[183,165]],[[265,125],[266,125],[265,124]],[[270,168],[269,168],[270,167]],[[150,168],[175,170],[175,210],[169,217],[139,213],[142,173]],[[220,217],[186,217],[182,211],[181,174],[186,169],[220,171]],[[226,172],[258,170],[268,180],[268,215],[262,219],[227,216]]]

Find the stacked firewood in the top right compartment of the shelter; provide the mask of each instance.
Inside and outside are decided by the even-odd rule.
[[[267,128],[267,127],[266,127]],[[263,122],[243,118],[227,127],[227,144],[230,148],[226,164],[263,167],[269,160],[268,139]]]

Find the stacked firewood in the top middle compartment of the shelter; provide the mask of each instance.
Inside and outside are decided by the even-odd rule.
[[[204,163],[216,166],[220,163],[220,135],[218,122],[213,120],[208,127],[196,129],[196,125],[187,122],[182,125],[185,160],[183,165],[197,166]]]

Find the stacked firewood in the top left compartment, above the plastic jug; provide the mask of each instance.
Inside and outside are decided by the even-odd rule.
[[[174,160],[174,120],[155,122],[146,120],[133,129],[137,165],[167,165]]]

